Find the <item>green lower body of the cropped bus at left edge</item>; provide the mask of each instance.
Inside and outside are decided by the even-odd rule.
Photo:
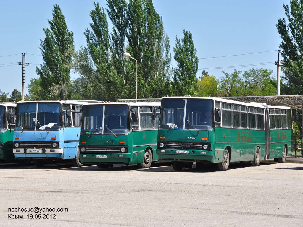
[[[15,160],[15,155],[13,154],[13,137],[14,130],[8,129],[0,133],[0,143],[3,143],[3,148],[0,150],[0,160]]]

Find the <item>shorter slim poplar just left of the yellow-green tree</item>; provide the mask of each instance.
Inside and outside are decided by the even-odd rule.
[[[194,46],[191,32],[183,30],[184,38],[180,40],[176,36],[176,46],[174,49],[174,59],[177,66],[173,67],[174,76],[172,86],[177,96],[194,96],[198,88],[198,57],[197,49]]]

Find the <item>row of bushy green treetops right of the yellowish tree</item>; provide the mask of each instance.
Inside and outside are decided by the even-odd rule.
[[[277,92],[272,70],[252,68],[243,73],[236,69],[232,74],[222,72],[224,76],[218,85],[220,96],[268,96]]]

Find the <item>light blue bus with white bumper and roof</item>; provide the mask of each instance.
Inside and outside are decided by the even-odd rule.
[[[47,160],[72,160],[82,166],[79,154],[81,108],[84,101],[18,102],[13,138],[17,160],[33,160],[37,167]]]

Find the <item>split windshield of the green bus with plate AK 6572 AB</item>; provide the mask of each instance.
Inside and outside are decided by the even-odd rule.
[[[127,105],[83,106],[81,133],[126,134],[130,131],[129,112]]]

